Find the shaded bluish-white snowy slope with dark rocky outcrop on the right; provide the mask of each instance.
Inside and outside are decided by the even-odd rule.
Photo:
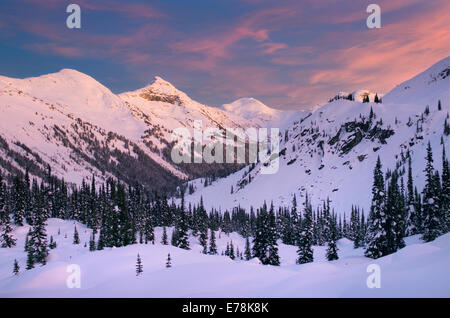
[[[449,64],[449,57],[438,62],[386,94],[382,104],[346,99],[325,104],[282,134],[277,173],[261,174],[258,164],[250,172],[244,168],[206,188],[201,180],[192,181],[197,191],[187,202],[198,203],[203,197],[207,208],[223,211],[238,205],[256,208],[264,201],[288,206],[294,194],[302,202],[308,193],[313,204],[330,197],[338,213],[348,214],[352,204],[367,212],[377,156],[385,171],[397,164],[407,169],[402,154],[408,150],[413,178],[421,190],[426,144],[431,142],[434,164],[440,170],[441,137],[449,143],[448,136],[443,136],[450,106]],[[404,91],[405,86],[409,88]],[[424,114],[427,105],[429,115]],[[371,109],[375,118],[369,123]],[[246,184],[249,175],[251,182]]]

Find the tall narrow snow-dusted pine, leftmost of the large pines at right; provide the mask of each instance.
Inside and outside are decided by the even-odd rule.
[[[365,255],[376,259],[388,254],[388,239],[386,233],[387,218],[385,211],[386,196],[380,157],[377,159],[373,179],[372,203],[370,206]]]

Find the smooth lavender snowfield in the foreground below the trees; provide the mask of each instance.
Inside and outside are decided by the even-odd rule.
[[[339,260],[328,262],[325,247],[314,247],[314,262],[295,265],[296,248],[279,244],[281,266],[263,266],[256,259],[232,261],[226,256],[203,255],[197,239],[191,237],[192,250],[162,245],[161,229],[156,243],[136,244],[89,252],[84,242],[91,230],[77,223],[80,245],[72,244],[74,223],[48,220],[48,234],[57,248],[50,251],[49,262],[25,270],[23,244],[28,227],[15,229],[18,244],[0,249],[0,297],[449,297],[450,234],[423,243],[417,236],[406,239],[407,246],[377,260],[353,249],[347,239],[338,242]],[[58,230],[60,234],[58,235]],[[169,233],[170,234],[170,233]],[[67,238],[65,236],[67,235]],[[236,233],[217,233],[219,252],[227,242],[244,248]],[[219,238],[220,237],[220,238]],[[140,254],[144,272],[136,277],[135,264]],[[167,254],[172,267],[165,268]],[[14,259],[21,267],[12,275]],[[68,288],[71,264],[80,266],[81,288]],[[381,270],[381,288],[366,285],[367,267]]]

